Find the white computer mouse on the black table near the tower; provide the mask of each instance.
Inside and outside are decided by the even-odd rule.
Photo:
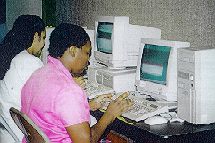
[[[167,123],[168,120],[161,116],[153,116],[153,117],[147,118],[144,122],[148,125],[159,125],[159,124]]]

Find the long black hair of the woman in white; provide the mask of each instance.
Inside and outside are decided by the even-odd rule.
[[[6,34],[0,45],[0,80],[10,68],[12,59],[21,51],[28,49],[34,39],[34,34],[45,31],[43,20],[36,15],[19,16],[12,29]]]

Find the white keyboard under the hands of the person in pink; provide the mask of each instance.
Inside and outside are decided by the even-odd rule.
[[[119,93],[114,95],[113,98],[115,99],[118,96]],[[160,104],[156,101],[148,101],[145,98],[137,97],[135,96],[135,92],[129,92],[128,98],[134,104],[127,112],[123,113],[122,116],[137,122],[157,114],[168,112],[169,109],[168,106]],[[108,105],[106,104],[106,107],[103,109],[107,109],[107,106]]]

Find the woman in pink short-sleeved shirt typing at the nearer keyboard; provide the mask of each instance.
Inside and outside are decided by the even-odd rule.
[[[95,124],[89,126],[89,104],[72,74],[88,64],[91,43],[83,28],[60,24],[51,33],[48,63],[37,70],[22,89],[22,112],[26,113],[51,142],[97,142],[106,127],[132,104],[123,94],[111,102]]]

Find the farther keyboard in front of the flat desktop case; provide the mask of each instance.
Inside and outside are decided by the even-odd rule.
[[[85,91],[89,99],[95,98],[98,95],[114,93],[114,90],[102,84],[86,80]]]

